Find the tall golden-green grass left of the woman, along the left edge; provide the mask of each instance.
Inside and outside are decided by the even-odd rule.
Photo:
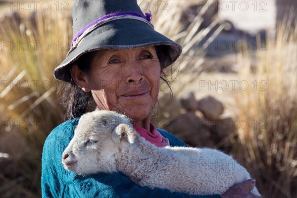
[[[64,114],[52,72],[69,49],[68,14],[36,12],[1,20],[0,141],[1,152],[9,154],[0,158],[1,197],[41,195],[43,144]]]

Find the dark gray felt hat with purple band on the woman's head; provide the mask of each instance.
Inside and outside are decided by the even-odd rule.
[[[73,4],[73,40],[65,60],[54,69],[58,80],[69,80],[69,65],[84,53],[98,49],[131,49],[167,46],[165,68],[181,54],[182,47],[154,31],[151,15],[136,0],[76,0]]]

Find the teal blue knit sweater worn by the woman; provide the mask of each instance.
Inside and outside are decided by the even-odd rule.
[[[62,153],[73,138],[78,119],[66,121],[49,134],[42,156],[43,198],[220,198],[171,193],[167,189],[141,187],[121,173],[79,176],[66,171],[62,165]],[[171,146],[183,146],[180,139],[158,129]]]

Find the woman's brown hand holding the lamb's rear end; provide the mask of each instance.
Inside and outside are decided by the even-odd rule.
[[[256,180],[249,179],[239,184],[234,184],[226,193],[224,193],[222,198],[261,198],[252,194],[250,191],[255,187]]]

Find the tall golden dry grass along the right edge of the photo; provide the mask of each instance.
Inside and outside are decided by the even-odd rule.
[[[296,42],[297,27],[283,23],[265,50],[245,51],[238,59],[239,78],[250,86],[236,95],[245,126],[232,153],[267,198],[297,196]]]

